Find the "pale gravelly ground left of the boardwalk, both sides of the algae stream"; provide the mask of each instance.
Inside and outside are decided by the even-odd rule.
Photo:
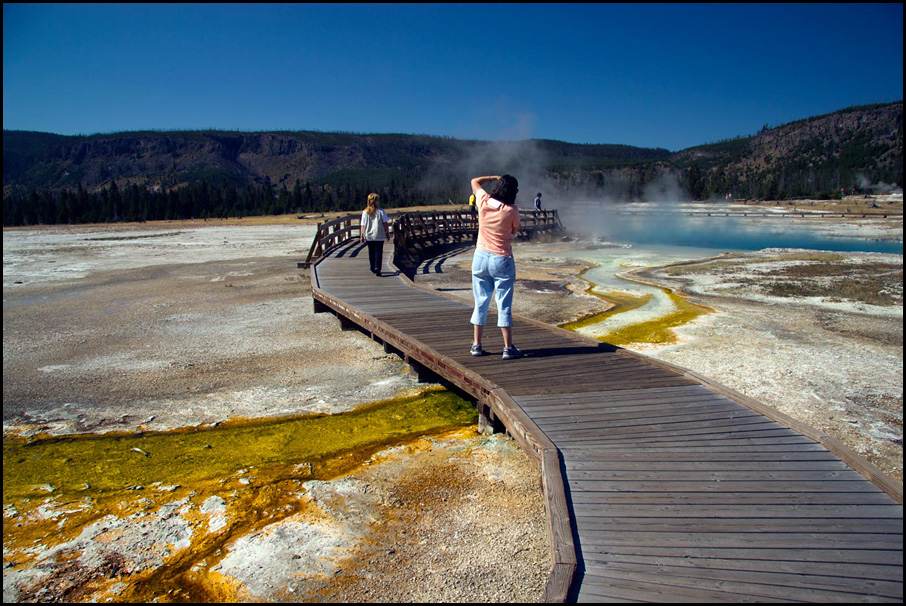
[[[204,427],[423,390],[398,357],[313,313],[296,267],[313,233],[4,231],[4,435]],[[243,482],[233,492],[160,486],[113,504],[38,486],[30,503],[4,502],[4,601],[124,599],[147,571],[177,565],[190,593],[164,586],[161,599],[537,600],[549,569],[540,476],[511,439],[476,429],[300,487],[285,503],[296,513],[254,525],[237,509],[256,486],[249,470],[227,479]],[[217,541],[215,556],[192,555]]]

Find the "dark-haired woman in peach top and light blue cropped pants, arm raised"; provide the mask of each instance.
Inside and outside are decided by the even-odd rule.
[[[483,184],[496,181],[490,194]],[[513,236],[519,231],[519,208],[516,192],[519,182],[511,175],[475,177],[472,193],[478,206],[478,242],[472,257],[472,312],[474,338],[471,354],[484,355],[481,336],[488,321],[491,293],[497,301],[497,326],[503,334],[503,359],[514,360],[522,352],[513,345],[513,288],[516,284],[516,261],[513,258]]]

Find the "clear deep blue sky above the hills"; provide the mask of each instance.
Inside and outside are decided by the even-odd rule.
[[[4,4],[3,128],[679,150],[903,99],[902,4]]]

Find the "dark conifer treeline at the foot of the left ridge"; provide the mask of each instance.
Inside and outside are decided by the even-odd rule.
[[[79,185],[76,190],[37,189],[27,196],[3,199],[3,226],[76,223],[118,223],[156,220],[213,219],[289,213],[351,211],[365,206],[371,192],[381,194],[382,206],[398,208],[424,204],[400,182],[369,188],[356,185],[302,183],[292,189],[269,183],[245,188],[213,185],[202,180],[162,191],[138,184],[118,187],[115,181],[97,192]]]

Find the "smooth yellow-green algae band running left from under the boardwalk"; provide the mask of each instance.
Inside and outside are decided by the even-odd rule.
[[[429,390],[335,415],[246,420],[209,429],[129,435],[4,438],[3,501],[192,485],[251,467],[293,464],[308,477],[336,459],[475,423],[474,406]],[[358,457],[353,457],[358,458]]]

